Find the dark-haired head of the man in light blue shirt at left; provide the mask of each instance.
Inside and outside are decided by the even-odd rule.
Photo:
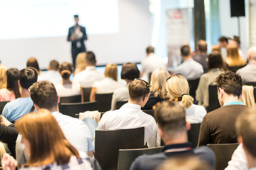
[[[26,67],[25,69],[21,69],[18,74],[18,79],[21,87],[23,89],[28,89],[33,83],[36,83],[38,79],[38,72],[33,67]]]

